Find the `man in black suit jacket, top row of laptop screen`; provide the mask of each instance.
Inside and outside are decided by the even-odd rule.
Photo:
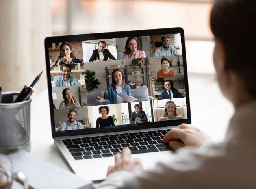
[[[115,57],[109,52],[109,50],[105,48],[106,48],[106,42],[99,41],[98,48],[93,50],[93,54],[91,55],[89,62],[106,61],[108,60],[108,58],[111,60],[116,60]]]

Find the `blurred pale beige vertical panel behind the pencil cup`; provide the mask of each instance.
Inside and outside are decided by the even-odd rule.
[[[2,91],[21,91],[41,71],[33,89],[47,89],[44,39],[52,35],[50,0],[0,0],[0,10]]]

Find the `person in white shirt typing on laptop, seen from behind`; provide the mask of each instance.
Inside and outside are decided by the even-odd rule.
[[[169,164],[143,171],[139,159],[131,160],[124,149],[98,188],[256,188],[255,10],[254,0],[217,0],[211,11],[216,76],[235,109],[224,141],[214,143],[198,128],[182,124],[163,138],[179,149]]]

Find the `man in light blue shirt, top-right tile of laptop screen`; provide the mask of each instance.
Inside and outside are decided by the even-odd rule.
[[[162,46],[156,49],[154,56],[174,56],[179,55],[176,48],[170,45],[169,36],[161,37]]]

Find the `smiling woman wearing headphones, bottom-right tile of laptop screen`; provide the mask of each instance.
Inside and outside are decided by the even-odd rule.
[[[167,101],[165,104],[165,114],[163,117],[159,119],[159,121],[169,121],[169,120],[177,120],[177,119],[184,119],[181,115],[178,115],[177,107],[173,101]]]

